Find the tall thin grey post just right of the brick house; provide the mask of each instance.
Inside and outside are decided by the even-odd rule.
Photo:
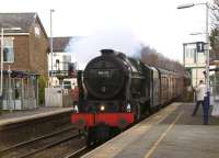
[[[51,54],[51,88],[53,88],[53,81],[54,81],[54,38],[53,38],[53,12],[55,12],[54,9],[50,9],[50,54]]]

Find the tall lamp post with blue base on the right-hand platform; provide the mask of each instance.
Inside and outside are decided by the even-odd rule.
[[[205,5],[206,7],[206,97],[205,97],[205,109],[204,109],[204,124],[208,124],[208,109],[210,104],[210,87],[209,87],[209,33],[208,33],[208,14],[209,14],[209,4],[205,3],[187,3],[178,5],[177,9],[186,9],[195,5]]]

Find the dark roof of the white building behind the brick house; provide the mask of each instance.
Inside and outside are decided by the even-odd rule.
[[[66,52],[67,46],[72,37],[53,37],[53,49],[54,52]],[[49,38],[50,40],[50,38]]]

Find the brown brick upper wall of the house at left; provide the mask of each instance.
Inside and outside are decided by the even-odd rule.
[[[37,21],[35,25],[39,26]],[[14,63],[4,64],[4,70],[8,70],[8,66],[10,65],[12,70],[47,76],[48,42],[42,30],[39,30],[39,35],[35,34],[35,25],[33,25],[30,35],[4,36],[14,37]]]

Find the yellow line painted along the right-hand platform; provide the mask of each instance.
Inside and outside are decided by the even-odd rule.
[[[155,150],[160,142],[165,137],[165,135],[169,133],[169,131],[174,126],[174,124],[178,121],[183,112],[181,112],[177,117],[174,120],[174,122],[168,127],[168,129],[160,136],[160,138],[153,144],[152,148],[146,154],[145,158],[149,158],[151,154]]]

